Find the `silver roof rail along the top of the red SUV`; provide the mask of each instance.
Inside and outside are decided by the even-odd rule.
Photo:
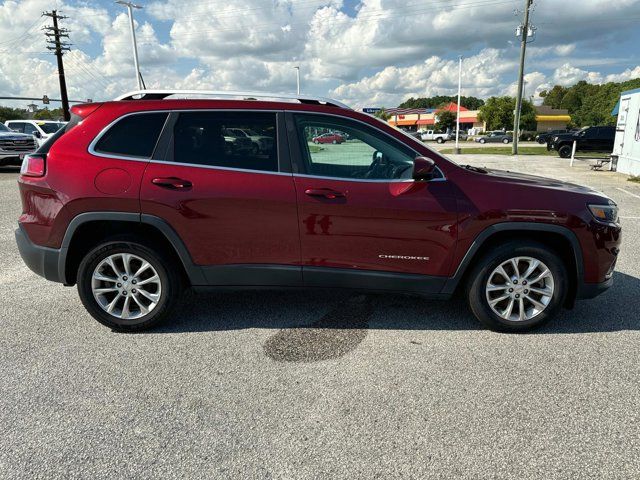
[[[351,109],[348,105],[331,98],[316,97],[312,95],[287,95],[281,93],[265,92],[231,92],[231,91],[210,91],[210,90],[134,90],[116,97],[114,100],[163,100],[167,97],[177,96],[178,98],[230,98],[243,100],[288,100],[298,101],[305,104],[329,105],[332,107]]]

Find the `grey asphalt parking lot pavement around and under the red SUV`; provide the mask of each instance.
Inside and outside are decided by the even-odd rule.
[[[620,205],[615,286],[527,335],[461,299],[187,296],[136,335],[22,265],[0,171],[0,478],[638,478],[640,186],[552,157],[463,163]]]

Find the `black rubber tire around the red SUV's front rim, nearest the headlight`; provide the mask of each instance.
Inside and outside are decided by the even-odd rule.
[[[554,293],[547,307],[533,318],[512,321],[500,317],[490,307],[485,290],[491,273],[513,257],[531,257],[544,263],[553,275]],[[533,241],[511,241],[486,253],[473,267],[467,281],[467,298],[471,311],[484,325],[499,332],[525,332],[540,327],[553,318],[564,305],[569,276],[560,255]]]

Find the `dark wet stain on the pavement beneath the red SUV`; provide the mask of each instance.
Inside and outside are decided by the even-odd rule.
[[[265,342],[264,351],[278,362],[318,362],[342,357],[367,336],[372,314],[371,297],[351,297],[309,326],[275,333]]]

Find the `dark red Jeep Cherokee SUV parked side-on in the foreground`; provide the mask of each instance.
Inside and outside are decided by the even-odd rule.
[[[457,165],[332,100],[209,95],[76,106],[24,160],[22,258],[109,327],[157,324],[185,287],[335,287],[465,295],[521,331],[612,284],[620,225],[601,193]],[[230,148],[234,129],[272,141]],[[313,148],[336,130],[348,149]]]

